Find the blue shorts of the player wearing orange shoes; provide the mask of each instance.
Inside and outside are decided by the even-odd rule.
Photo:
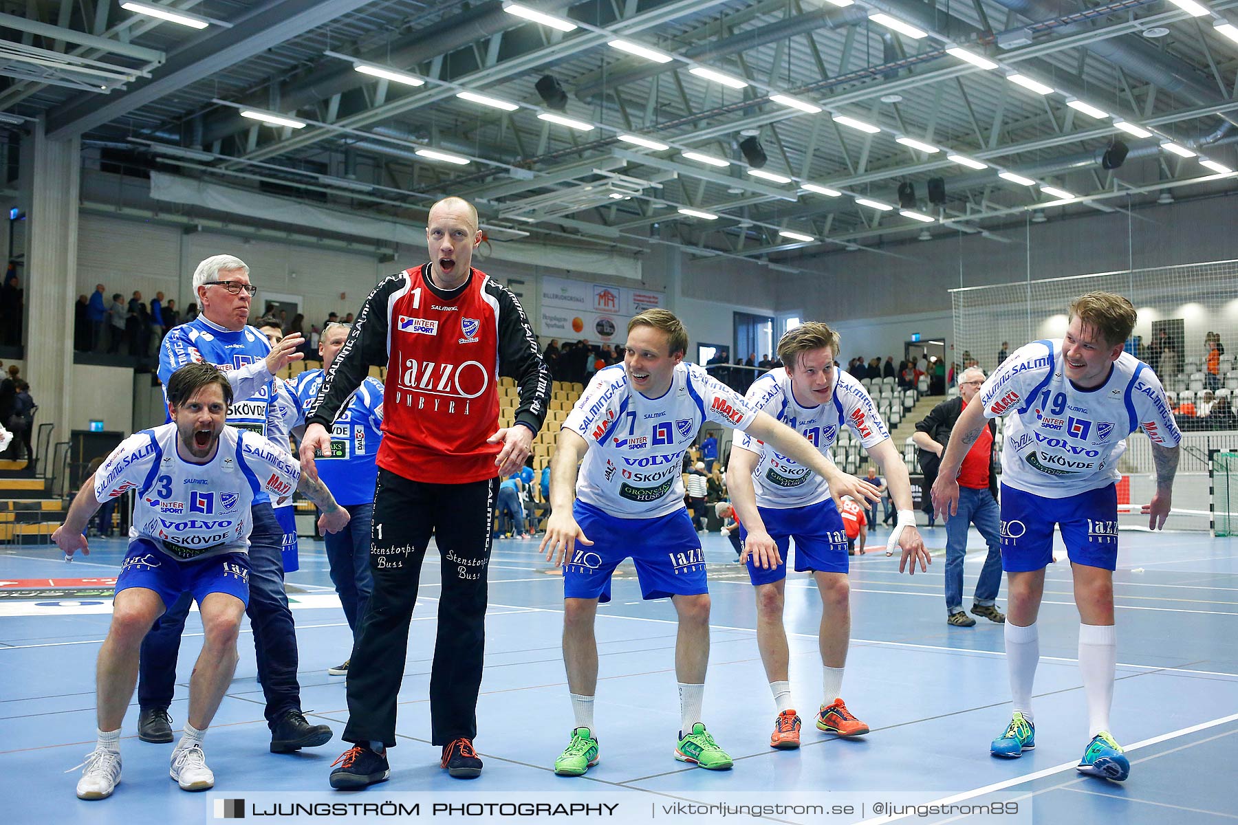
[[[843,517],[833,498],[826,498],[803,507],[758,507],[765,531],[777,544],[782,563],[765,570],[748,559],[748,578],[754,585],[771,584],[786,578],[786,560],[790,558],[791,539],[795,539],[795,570],[805,573],[847,573],[851,568],[847,559],[847,531],[843,529]],[[739,526],[739,538],[748,541],[748,529]]]

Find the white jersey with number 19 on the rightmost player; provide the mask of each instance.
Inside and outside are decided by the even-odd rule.
[[[1062,367],[1062,339],[1015,350],[979,391],[985,418],[1015,413],[1005,427],[1002,484],[1067,498],[1118,481],[1127,435],[1140,427],[1154,444],[1182,439],[1151,367],[1123,353],[1109,378],[1080,390]]]

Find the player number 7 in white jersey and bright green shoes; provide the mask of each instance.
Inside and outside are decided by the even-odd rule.
[[[825,477],[834,495],[879,498],[877,487],[838,470],[794,429],[753,409],[703,367],[683,364],[687,344],[683,325],[665,309],[633,318],[623,365],[593,376],[560,430],[551,463],[552,512],[541,543],[547,559],[563,564],[563,662],[576,715],[567,750],[555,761],[560,776],[578,777],[598,763],[593,625],[598,602],[610,601],[612,573],[628,557],[641,595],[670,596],[678,613],[675,672],[682,726],[675,758],[711,771],[732,766],[701,721],[709,594],[680,475],[683,453],[706,419],[773,445]]]

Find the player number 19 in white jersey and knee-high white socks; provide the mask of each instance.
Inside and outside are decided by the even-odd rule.
[[[1005,623],[1014,714],[993,740],[994,756],[1014,758],[1036,746],[1031,688],[1040,659],[1036,616],[1057,524],[1071,560],[1080,613],[1078,662],[1088,737],[1080,773],[1120,782],[1130,761],[1109,733],[1117,664],[1113,570],[1118,559],[1118,461],[1127,437],[1151,442],[1156,492],[1148,526],[1169,516],[1181,435],[1153,370],[1123,350],[1135,308],[1122,296],[1091,292],[1071,304],[1065,339],[1020,348],[979,390],[954,424],[932,486],[946,517],[958,505],[958,471],[985,418],[1013,413],[1003,433],[1002,566],[1010,588]]]

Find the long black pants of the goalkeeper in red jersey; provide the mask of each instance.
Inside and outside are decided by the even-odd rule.
[[[438,636],[430,677],[432,742],[477,735],[485,652],[490,522],[499,479],[468,484],[410,481],[379,469],[371,527],[374,592],[348,665],[344,741],[395,746],[396,694],[409,622],[431,533],[442,564]]]

